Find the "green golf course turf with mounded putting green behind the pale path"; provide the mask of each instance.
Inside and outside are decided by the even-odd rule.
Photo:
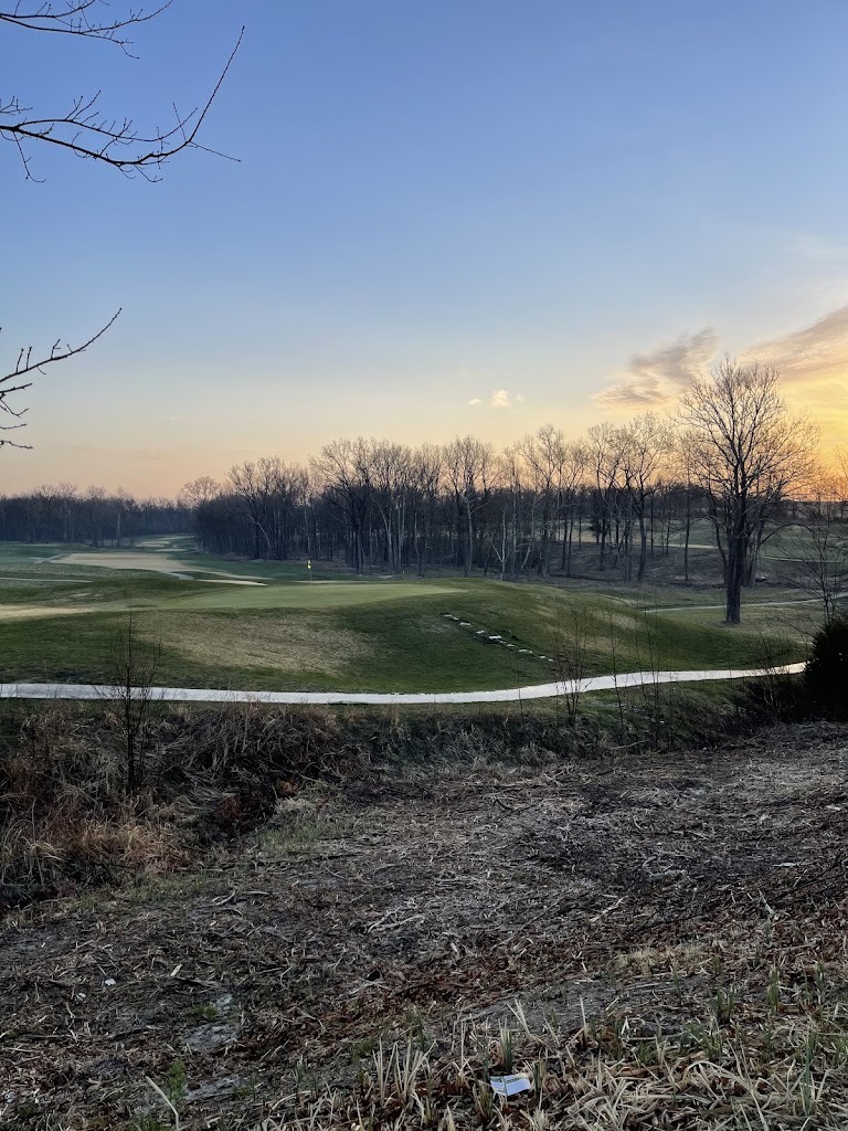
[[[815,603],[797,590],[758,597],[745,623],[728,629],[718,589],[319,570],[308,580],[303,563],[214,559],[185,538],[127,551],[6,544],[0,679],[109,680],[130,608],[139,636],[161,642],[159,681],[187,687],[429,692],[542,683],[576,633],[587,675],[750,665],[767,653],[803,658]]]

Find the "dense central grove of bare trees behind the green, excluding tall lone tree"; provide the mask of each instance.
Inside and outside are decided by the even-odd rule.
[[[649,416],[586,441],[547,425],[502,452],[473,435],[415,448],[340,439],[309,465],[248,460],[181,498],[214,553],[516,579],[570,573],[574,549],[594,538],[600,569],[641,578],[649,547],[666,552],[681,517],[677,485],[652,466],[663,434]]]

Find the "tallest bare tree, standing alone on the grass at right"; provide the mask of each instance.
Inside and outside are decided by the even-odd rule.
[[[726,357],[682,398],[693,475],[721,554],[727,624],[739,623],[742,587],[767,525],[811,468],[816,430],[789,414],[778,385],[775,369]]]

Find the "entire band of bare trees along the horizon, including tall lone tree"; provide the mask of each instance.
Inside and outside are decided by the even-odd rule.
[[[548,424],[500,451],[474,435],[418,447],[339,439],[306,464],[267,456],[223,481],[201,476],[175,502],[41,487],[0,499],[0,538],[99,546],[191,530],[214,554],[309,558],[357,573],[450,567],[518,580],[592,569],[638,582],[673,547],[689,580],[692,534],[706,520],[736,623],[776,530],[845,519],[848,467],[825,474],[816,447],[773,370],[725,359],[674,416],[649,412],[578,439]],[[829,529],[827,545],[839,537]]]

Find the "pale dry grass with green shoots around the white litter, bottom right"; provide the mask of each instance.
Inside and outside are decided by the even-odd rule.
[[[775,972],[777,983],[779,970]],[[786,972],[784,972],[784,975]],[[772,978],[776,984],[776,978]],[[813,992],[788,990],[664,1035],[626,1011],[583,1018],[574,1028],[535,1028],[519,1002],[510,1022],[464,1026],[441,1044],[412,1031],[379,1044],[354,1088],[280,1097],[256,1131],[341,1128],[451,1131],[585,1131],[674,1128],[842,1128],[848,1117],[846,966],[819,968]],[[721,1002],[725,1004],[721,1005]],[[507,1100],[490,1080],[523,1076]]]

